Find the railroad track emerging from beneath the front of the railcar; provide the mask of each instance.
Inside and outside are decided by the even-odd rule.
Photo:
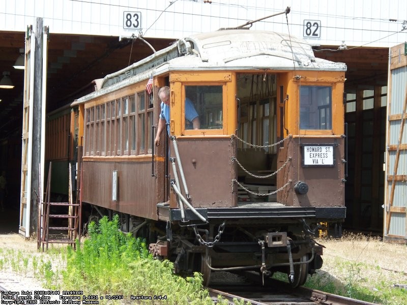
[[[265,280],[264,286],[255,280],[249,276],[249,281],[252,281],[249,284],[215,284],[207,289],[214,300],[218,295],[222,295],[229,300],[229,304],[234,304],[233,299],[236,298],[252,305],[373,305],[370,302],[305,287],[293,289],[287,283],[273,279]]]

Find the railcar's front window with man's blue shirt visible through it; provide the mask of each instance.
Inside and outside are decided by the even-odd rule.
[[[222,86],[185,86],[185,129],[223,129]],[[192,107],[191,107],[192,106]]]

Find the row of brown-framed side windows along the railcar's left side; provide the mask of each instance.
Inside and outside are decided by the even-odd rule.
[[[139,110],[141,96],[144,97],[143,107]],[[127,91],[121,97],[85,105],[84,156],[128,157],[151,154],[154,134],[149,125],[154,124],[154,114],[154,103],[149,103],[145,90]],[[139,116],[144,117],[143,122]],[[56,121],[52,124],[59,126]],[[142,146],[143,149],[140,149]]]

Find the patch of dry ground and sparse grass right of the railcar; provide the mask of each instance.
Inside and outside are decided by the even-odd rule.
[[[306,287],[375,304],[407,304],[407,290],[394,287],[397,283],[407,284],[405,246],[351,233],[340,240],[328,238],[319,242],[327,246],[324,265],[315,275],[308,276]],[[394,260],[399,266],[388,269],[387,261]]]

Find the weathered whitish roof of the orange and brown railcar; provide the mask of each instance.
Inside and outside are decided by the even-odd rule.
[[[288,34],[225,29],[185,37],[129,67],[106,75],[96,92],[72,105],[165,72],[195,70],[346,71],[346,65],[315,57],[307,41]]]

